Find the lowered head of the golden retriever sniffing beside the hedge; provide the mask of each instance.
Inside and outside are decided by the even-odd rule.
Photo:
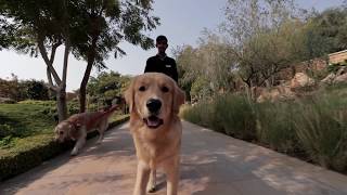
[[[77,136],[77,128],[72,122],[64,120],[61,121],[54,129],[55,141],[64,142],[66,140],[75,140]]]

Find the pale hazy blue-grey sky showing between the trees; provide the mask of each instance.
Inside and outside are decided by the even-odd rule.
[[[342,4],[343,0],[297,0],[297,4],[304,9],[314,8],[322,11],[330,6]],[[179,46],[196,46],[197,39],[204,28],[216,29],[224,20],[223,8],[227,0],[154,0],[152,14],[160,17],[160,26],[149,35],[155,39],[158,35],[168,38],[168,55]],[[110,58],[105,61],[107,72],[114,70],[123,75],[139,75],[143,73],[147,57],[156,54],[156,49],[142,50],[140,47],[123,42],[120,48],[127,52],[126,56]],[[63,47],[56,52],[54,67],[59,75],[62,75]],[[85,61],[77,61],[69,55],[67,73],[67,91],[79,88],[83,77]],[[46,64],[39,56],[37,58],[29,55],[18,54],[14,51],[0,51],[0,78],[11,79],[11,74],[20,79],[36,79],[47,81]],[[97,76],[93,70],[91,76]]]

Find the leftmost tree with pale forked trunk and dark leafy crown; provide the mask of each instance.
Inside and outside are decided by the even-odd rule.
[[[66,75],[70,51],[69,14],[67,0],[0,1],[2,47],[37,56],[47,65],[50,89],[56,94],[59,120],[67,117]],[[3,43],[4,42],[4,43]],[[65,44],[63,74],[60,78],[53,63],[55,51]],[[51,51],[50,57],[48,51]],[[55,84],[53,83],[53,79]]]

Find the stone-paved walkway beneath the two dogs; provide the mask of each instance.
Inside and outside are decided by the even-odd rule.
[[[183,122],[179,194],[346,195],[347,177],[240,140]],[[128,195],[136,157],[127,125],[107,131],[102,145],[88,141],[85,152],[68,153],[0,184],[0,194]],[[157,194],[165,194],[159,174]]]

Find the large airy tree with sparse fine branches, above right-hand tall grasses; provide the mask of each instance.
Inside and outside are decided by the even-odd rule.
[[[301,57],[296,29],[305,16],[293,0],[228,1],[221,30],[248,89]]]

